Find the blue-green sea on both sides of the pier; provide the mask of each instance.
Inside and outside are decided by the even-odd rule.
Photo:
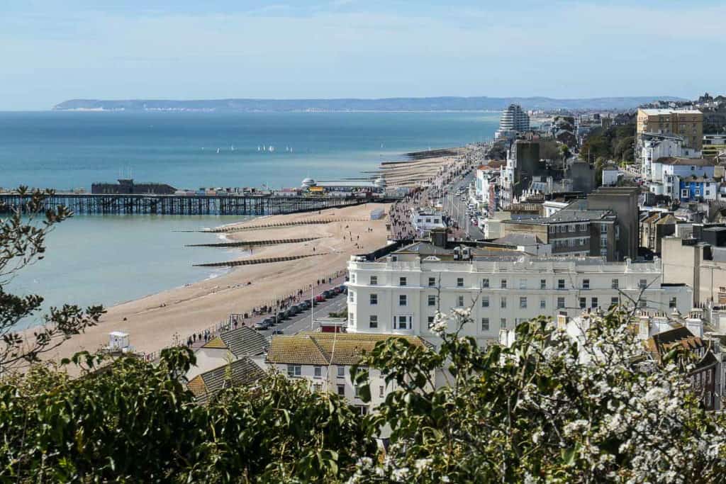
[[[299,186],[306,177],[358,177],[407,152],[487,141],[498,122],[481,112],[0,112],[0,187],[90,191],[119,178],[184,189]],[[4,290],[42,295],[45,309],[109,306],[216,277],[224,271],[193,265],[243,253],[185,246],[219,237],[196,229],[242,218],[74,216]]]

